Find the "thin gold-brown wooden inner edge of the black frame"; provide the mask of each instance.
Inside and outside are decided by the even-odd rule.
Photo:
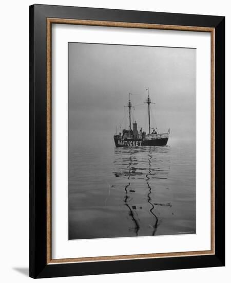
[[[148,259],[164,257],[185,257],[185,256],[203,256],[215,255],[215,28],[211,27],[194,27],[194,26],[177,26],[177,25],[158,25],[128,22],[110,22],[110,21],[92,21],[92,20],[72,20],[47,17],[46,28],[46,91],[47,91],[47,264],[55,263],[78,263],[94,261],[111,261],[111,260],[129,260],[129,259]],[[164,30],[181,30],[181,31],[201,31],[210,32],[210,78],[211,78],[211,249],[208,251],[195,252],[175,252],[159,254],[137,254],[137,255],[119,255],[119,256],[101,256],[101,257],[80,257],[80,258],[62,258],[52,259],[51,253],[51,25],[52,24],[74,24],[89,26],[107,26],[107,27],[127,27],[143,29],[164,29]]]

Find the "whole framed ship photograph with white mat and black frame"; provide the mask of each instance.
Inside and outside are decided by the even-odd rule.
[[[225,18],[30,6],[30,276],[225,264]]]

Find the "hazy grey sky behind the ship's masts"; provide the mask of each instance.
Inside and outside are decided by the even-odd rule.
[[[156,103],[151,127],[195,141],[196,49],[69,43],[68,50],[69,145],[90,145],[92,137],[94,144],[113,145],[128,93],[140,104],[147,86]],[[133,117],[147,132],[147,105]]]

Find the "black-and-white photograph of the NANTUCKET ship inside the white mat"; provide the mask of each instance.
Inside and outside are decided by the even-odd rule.
[[[196,49],[68,43],[68,239],[196,233]]]

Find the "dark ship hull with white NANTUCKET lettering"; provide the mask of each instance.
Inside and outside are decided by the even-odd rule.
[[[114,137],[116,147],[146,147],[146,146],[166,146],[168,137],[157,139],[120,139]]]

